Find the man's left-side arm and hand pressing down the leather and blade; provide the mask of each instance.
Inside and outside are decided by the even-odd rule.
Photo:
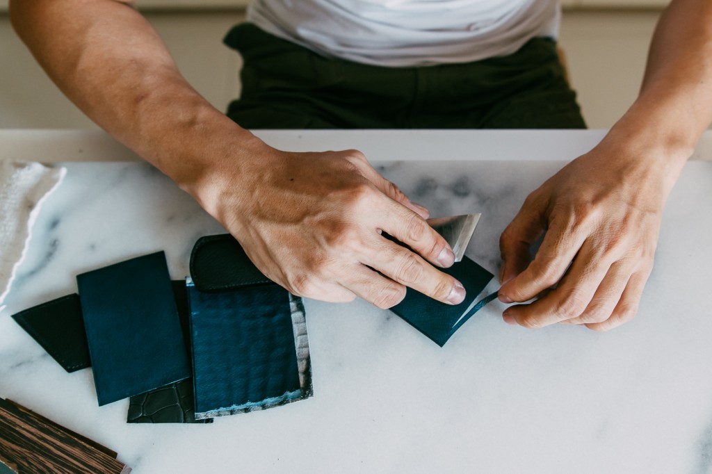
[[[407,285],[464,299],[427,263],[447,267],[454,255],[424,208],[359,152],[281,152],[231,122],[182,78],[130,1],[11,0],[10,16],[70,100],[192,194],[291,292],[390,307]]]

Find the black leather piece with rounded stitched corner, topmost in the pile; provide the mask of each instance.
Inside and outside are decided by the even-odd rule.
[[[202,292],[273,283],[229,233],[199,238],[190,255],[190,275]]]

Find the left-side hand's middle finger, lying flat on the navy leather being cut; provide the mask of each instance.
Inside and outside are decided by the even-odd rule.
[[[380,238],[375,245],[377,250],[365,256],[362,263],[375,268],[393,283],[408,286],[449,305],[458,305],[465,299],[465,288],[459,281],[429,265],[416,253],[385,238]],[[348,288],[354,293],[363,293],[363,290],[354,290],[350,285]]]

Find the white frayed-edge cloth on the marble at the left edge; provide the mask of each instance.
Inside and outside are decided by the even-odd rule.
[[[40,206],[65,173],[39,163],[0,161],[0,304],[25,257]]]

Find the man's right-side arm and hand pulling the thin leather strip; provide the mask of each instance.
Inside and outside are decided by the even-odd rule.
[[[500,298],[525,327],[607,330],[632,319],[653,267],[664,203],[712,121],[712,2],[673,0],[639,97],[591,152],[536,189],[504,231]],[[545,233],[530,262],[530,246]],[[548,288],[557,288],[548,292]]]

